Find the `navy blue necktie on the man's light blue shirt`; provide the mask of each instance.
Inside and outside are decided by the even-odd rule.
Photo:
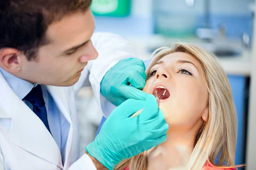
[[[47,111],[44,103],[44,97],[41,85],[37,85],[34,87],[26,97],[24,97],[25,100],[28,100],[29,103],[33,105],[33,112],[41,119],[41,121],[44,123],[45,127],[49,130],[51,133],[48,120],[47,120]],[[52,134],[52,133],[51,133]]]

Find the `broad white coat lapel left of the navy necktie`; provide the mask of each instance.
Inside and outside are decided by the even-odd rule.
[[[0,118],[11,118],[7,138],[20,148],[60,168],[60,150],[39,117],[12,91],[0,72]]]

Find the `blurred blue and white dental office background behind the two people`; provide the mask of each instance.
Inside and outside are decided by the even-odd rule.
[[[255,0],[92,0],[91,10],[95,32],[121,35],[144,61],[156,48],[174,41],[190,42],[217,55],[237,110],[236,164],[256,170]],[[77,100],[84,148],[94,139],[102,113],[91,87],[84,87]]]

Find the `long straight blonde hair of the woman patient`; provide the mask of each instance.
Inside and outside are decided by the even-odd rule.
[[[205,75],[208,91],[208,120],[204,122],[195,138],[195,147],[191,153],[186,170],[202,169],[206,162],[214,167],[236,168],[235,152],[237,137],[237,118],[231,87],[225,71],[218,63],[216,57],[192,44],[176,42],[171,48],[158,48],[154,53],[146,74],[152,65],[165,55],[184,52],[192,55],[200,63]],[[218,163],[215,159],[219,157]],[[124,170],[146,170],[147,151],[130,159],[121,161],[114,168]]]

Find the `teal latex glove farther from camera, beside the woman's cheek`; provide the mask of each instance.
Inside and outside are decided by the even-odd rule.
[[[123,59],[105,74],[100,83],[100,93],[115,106],[119,106],[127,99],[145,100],[147,93],[141,89],[144,88],[146,79],[142,60]]]

